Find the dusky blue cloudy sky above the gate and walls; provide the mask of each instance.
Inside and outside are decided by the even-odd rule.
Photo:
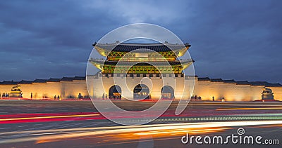
[[[199,76],[280,82],[281,1],[2,1],[0,80],[85,75],[92,42],[133,22],[192,44]]]

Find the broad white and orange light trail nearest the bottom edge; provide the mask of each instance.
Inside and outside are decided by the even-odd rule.
[[[54,130],[29,130],[14,133],[1,133],[1,136],[28,133],[25,137],[11,137],[0,140],[0,144],[13,142],[36,143],[56,142],[64,140],[91,139],[98,144],[111,142],[132,142],[149,138],[160,139],[166,137],[179,137],[184,133],[197,135],[198,133],[217,133],[237,126],[281,126],[282,121],[234,121],[234,122],[202,122],[202,123],[167,123],[141,126],[112,126],[96,128],[69,128]],[[96,142],[95,141],[95,142]]]

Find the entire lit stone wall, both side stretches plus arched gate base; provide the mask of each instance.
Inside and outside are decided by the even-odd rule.
[[[101,77],[97,76],[87,76],[89,79],[89,89],[90,95],[94,95],[96,98],[102,98],[102,94],[105,95],[109,93],[109,88],[114,85],[114,79],[109,76],[103,78],[102,85]],[[163,79],[160,77],[124,77],[118,79],[118,83],[126,81],[128,83],[128,90],[132,91],[133,88],[142,81],[145,83],[151,90],[152,99],[159,99],[161,95],[161,88],[163,85],[172,86],[175,90],[175,97],[177,100],[180,99],[181,94],[183,93],[184,87],[184,99],[187,99],[189,93],[192,92],[189,89],[191,88],[192,82],[183,83],[183,78],[176,78],[178,85],[174,86],[173,81],[167,81],[163,84]],[[186,77],[185,77],[186,79]],[[187,79],[186,79],[187,80]],[[152,83],[150,82],[152,81]],[[10,93],[11,88],[16,86],[16,84],[0,84],[0,93]],[[262,98],[262,88],[264,86],[253,86],[250,84],[238,84],[238,83],[224,83],[223,81],[200,81],[195,78],[195,89],[192,95],[197,95],[202,97],[202,100],[212,100],[214,96],[215,100],[221,100],[222,97],[226,101],[253,101],[260,100]],[[282,101],[282,87],[280,86],[268,86],[274,93],[275,100]],[[58,81],[58,82],[49,82],[46,83],[27,83],[20,84],[20,89],[22,90],[24,98],[30,98],[32,93],[32,99],[42,99],[43,97],[48,97],[54,99],[54,95],[59,95],[61,99],[66,98],[77,98],[78,94],[81,93],[83,97],[88,97],[87,86],[85,80],[73,80],[73,81]],[[104,91],[105,90],[105,91]],[[126,92],[126,88],[122,88],[123,96],[132,97],[133,93],[129,91]]]

